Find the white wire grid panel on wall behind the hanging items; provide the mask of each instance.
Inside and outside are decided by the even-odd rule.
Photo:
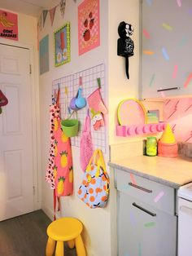
[[[82,79],[82,96],[87,99],[87,97],[98,88],[97,78],[101,79],[101,95],[103,101],[105,102],[105,66],[104,64],[98,64],[94,67],[87,68],[77,73],[70,74],[65,77],[61,77],[53,81],[53,95],[55,91],[58,90],[60,86],[60,115],[62,119],[69,117],[72,113],[72,109],[69,109],[70,101],[73,97],[76,97],[77,91],[79,89],[79,80]],[[65,94],[65,87],[67,87],[68,94]],[[87,115],[89,105],[86,104],[85,108],[78,110],[77,119],[80,122],[78,136],[71,138],[72,146],[80,147],[81,133],[83,130],[85,117]],[[70,112],[69,112],[70,110]],[[89,113],[91,116],[91,113]],[[76,118],[76,115],[73,114],[72,118]],[[107,129],[106,126],[100,127],[98,130],[94,130],[94,127],[91,123],[91,135],[94,144],[94,149],[102,149],[106,153],[107,150]]]

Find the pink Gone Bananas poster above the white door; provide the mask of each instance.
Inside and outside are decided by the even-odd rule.
[[[0,38],[18,41],[18,19],[16,14],[0,10]]]

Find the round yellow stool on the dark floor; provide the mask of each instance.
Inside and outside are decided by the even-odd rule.
[[[76,246],[77,256],[85,256],[85,247],[81,239],[82,223],[77,218],[59,218],[50,223],[46,233],[49,236],[46,244],[46,256],[64,256],[63,242],[68,241],[69,248]],[[55,250],[55,241],[57,241]]]

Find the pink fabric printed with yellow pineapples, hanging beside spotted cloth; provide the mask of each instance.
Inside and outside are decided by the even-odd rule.
[[[60,118],[55,119],[55,195],[72,195],[72,148],[71,141],[64,135]]]

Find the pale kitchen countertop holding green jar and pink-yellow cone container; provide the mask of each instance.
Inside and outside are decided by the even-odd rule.
[[[180,188],[192,182],[191,158],[137,156],[109,161],[108,165],[158,183],[164,183],[172,188]]]

